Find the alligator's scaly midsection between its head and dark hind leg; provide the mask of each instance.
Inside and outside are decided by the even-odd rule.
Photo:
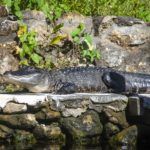
[[[53,81],[49,89],[57,93],[74,92],[107,92],[102,81],[104,72],[110,71],[101,67],[71,67],[51,71],[49,81]]]

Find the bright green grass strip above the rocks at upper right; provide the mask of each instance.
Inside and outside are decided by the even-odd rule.
[[[150,21],[149,0],[61,0],[61,3],[84,15],[133,16]]]

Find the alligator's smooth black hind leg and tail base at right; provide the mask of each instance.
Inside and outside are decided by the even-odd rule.
[[[113,92],[125,94],[150,93],[150,75],[110,71],[103,74],[103,82]]]

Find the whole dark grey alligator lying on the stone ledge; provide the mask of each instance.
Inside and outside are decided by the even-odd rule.
[[[22,67],[4,73],[5,82],[21,85],[30,92],[70,94],[75,92],[148,93],[150,75],[101,67],[70,67],[46,71]]]

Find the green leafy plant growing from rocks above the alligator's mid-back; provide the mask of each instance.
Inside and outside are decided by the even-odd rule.
[[[85,32],[84,24],[79,24],[79,26],[72,31],[71,36],[75,48],[81,50],[81,56],[88,62],[93,63],[95,59],[100,59],[98,50],[93,46],[91,35]]]

